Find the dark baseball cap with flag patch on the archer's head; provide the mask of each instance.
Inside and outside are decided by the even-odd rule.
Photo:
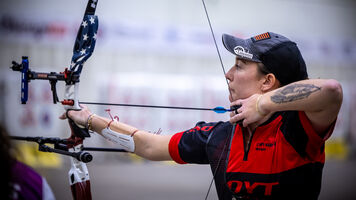
[[[248,39],[223,34],[225,48],[237,57],[261,62],[282,85],[308,78],[306,65],[296,43],[267,32]]]

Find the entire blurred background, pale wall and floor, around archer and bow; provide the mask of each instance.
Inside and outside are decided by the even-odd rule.
[[[356,199],[356,1],[206,0],[225,69],[234,57],[221,34],[251,37],[277,32],[297,42],[310,78],[341,82],[344,102],[327,141],[320,199]],[[0,122],[12,135],[67,137],[48,81],[32,81],[20,104],[20,73],[11,62],[28,56],[34,71],[69,67],[86,0],[0,1]],[[81,74],[81,101],[229,107],[228,90],[200,0],[101,0],[99,33]],[[64,84],[58,83],[60,99]],[[227,114],[90,106],[140,129],[173,134],[198,121]],[[45,176],[58,199],[70,199],[67,157],[39,153],[17,142],[20,159]],[[112,146],[95,135],[86,146]],[[88,164],[94,199],[203,199],[212,178],[208,166],[149,162],[123,153],[93,153]],[[217,199],[213,188],[209,199]]]

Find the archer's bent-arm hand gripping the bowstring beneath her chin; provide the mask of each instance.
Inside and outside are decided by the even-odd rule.
[[[261,112],[259,107],[262,96],[261,94],[254,94],[247,99],[233,101],[231,106],[241,105],[241,107],[236,112],[230,112],[230,123],[234,124],[242,120],[242,125],[247,127],[265,117],[268,113]]]

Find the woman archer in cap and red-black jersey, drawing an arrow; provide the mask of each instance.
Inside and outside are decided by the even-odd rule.
[[[210,164],[219,199],[317,199],[325,141],[342,103],[340,83],[308,79],[296,43],[280,34],[222,39],[235,56],[226,78],[231,106],[239,106],[228,122],[156,135],[84,106],[67,115],[143,158]]]

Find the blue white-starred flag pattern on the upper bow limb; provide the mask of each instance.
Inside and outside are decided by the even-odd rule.
[[[84,15],[74,43],[70,71],[80,73],[94,51],[99,21],[96,15]]]

